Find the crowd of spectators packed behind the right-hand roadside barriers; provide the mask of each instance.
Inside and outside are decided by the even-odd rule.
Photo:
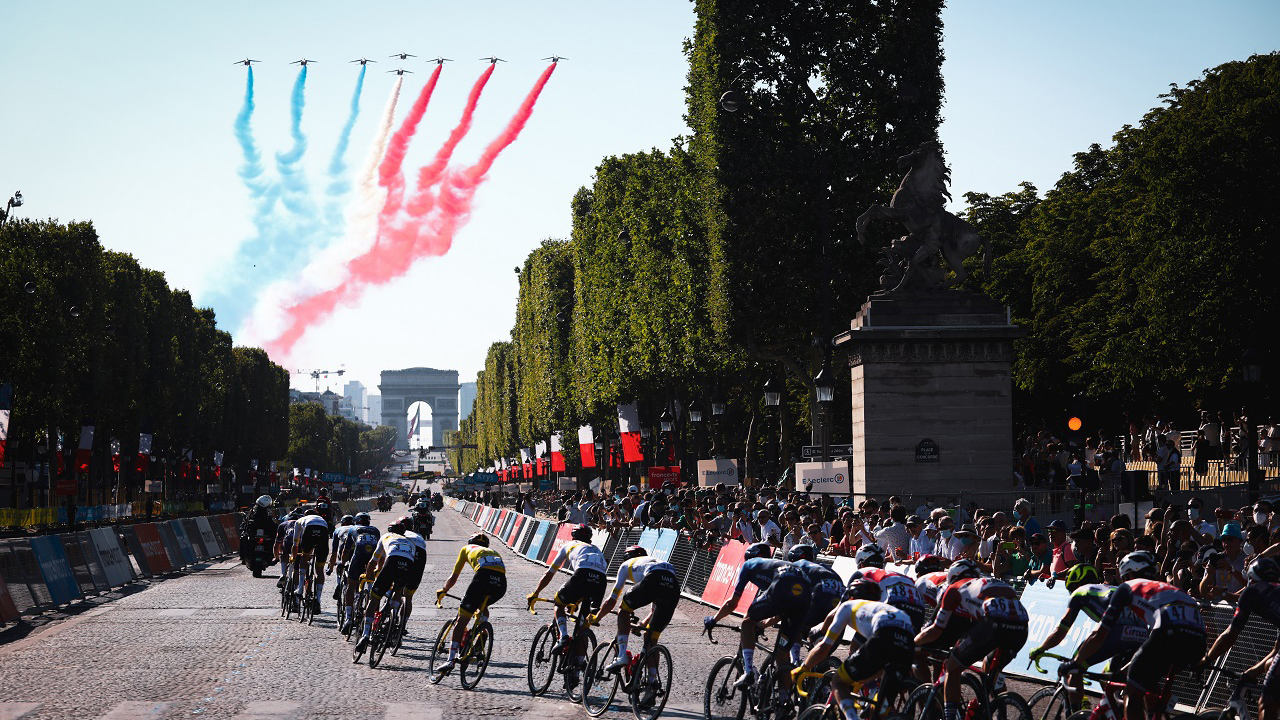
[[[1208,509],[1199,497],[1185,505],[1153,507],[1134,524],[1129,515],[1107,520],[1041,525],[1025,498],[1012,507],[909,509],[900,497],[884,502],[829,495],[716,486],[667,486],[604,496],[577,492],[468,493],[466,500],[515,507],[566,523],[607,530],[669,528],[698,548],[727,541],[768,542],[783,553],[812,544],[826,556],[852,556],[864,543],[879,544],[891,561],[909,564],[924,555],[969,557],[995,575],[1027,580],[1064,578],[1078,562],[1097,566],[1108,582],[1128,552],[1156,553],[1167,580],[1194,597],[1234,600],[1244,588],[1244,569],[1258,553],[1280,553],[1280,514],[1267,501],[1244,507]]]

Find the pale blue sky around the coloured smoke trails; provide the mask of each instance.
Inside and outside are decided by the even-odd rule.
[[[269,176],[273,155],[293,142],[298,67],[288,63],[316,60],[301,120],[308,140],[301,168],[315,187],[348,119],[360,68],[349,60],[378,60],[346,154],[356,173],[396,78],[387,70],[413,72],[404,76],[398,123],[433,69],[426,58],[454,59],[410,145],[412,178],[456,123],[486,67],[479,58],[507,61],[484,91],[457,165],[475,161],[502,131],[547,68],[541,58],[566,58],[477,190],[449,252],[415,263],[298,343],[285,365],[298,370],[293,384],[302,389],[315,388],[306,374],[314,369],[344,369],[321,383],[338,392],[349,379],[376,392],[380,370],[410,366],[474,379],[489,345],[512,327],[512,269],[543,240],[568,236],[570,201],[600,160],[667,149],[687,131],[682,42],[694,13],[686,0],[374,0],[360,9],[330,0],[41,0],[3,3],[0,18],[0,201],[20,190],[18,215],[92,220],[104,246],[163,270],[197,302],[239,277],[236,250],[255,229],[253,201],[237,174],[233,123],[246,72],[234,60],[262,60],[252,131]],[[1021,181],[1048,190],[1074,152],[1108,145],[1158,105],[1170,83],[1276,50],[1280,3],[954,0],[943,23],[940,135],[959,210],[968,191],[1002,193]],[[291,287],[298,274],[315,277],[320,270],[307,263],[317,258],[308,252],[278,268],[278,278]]]

